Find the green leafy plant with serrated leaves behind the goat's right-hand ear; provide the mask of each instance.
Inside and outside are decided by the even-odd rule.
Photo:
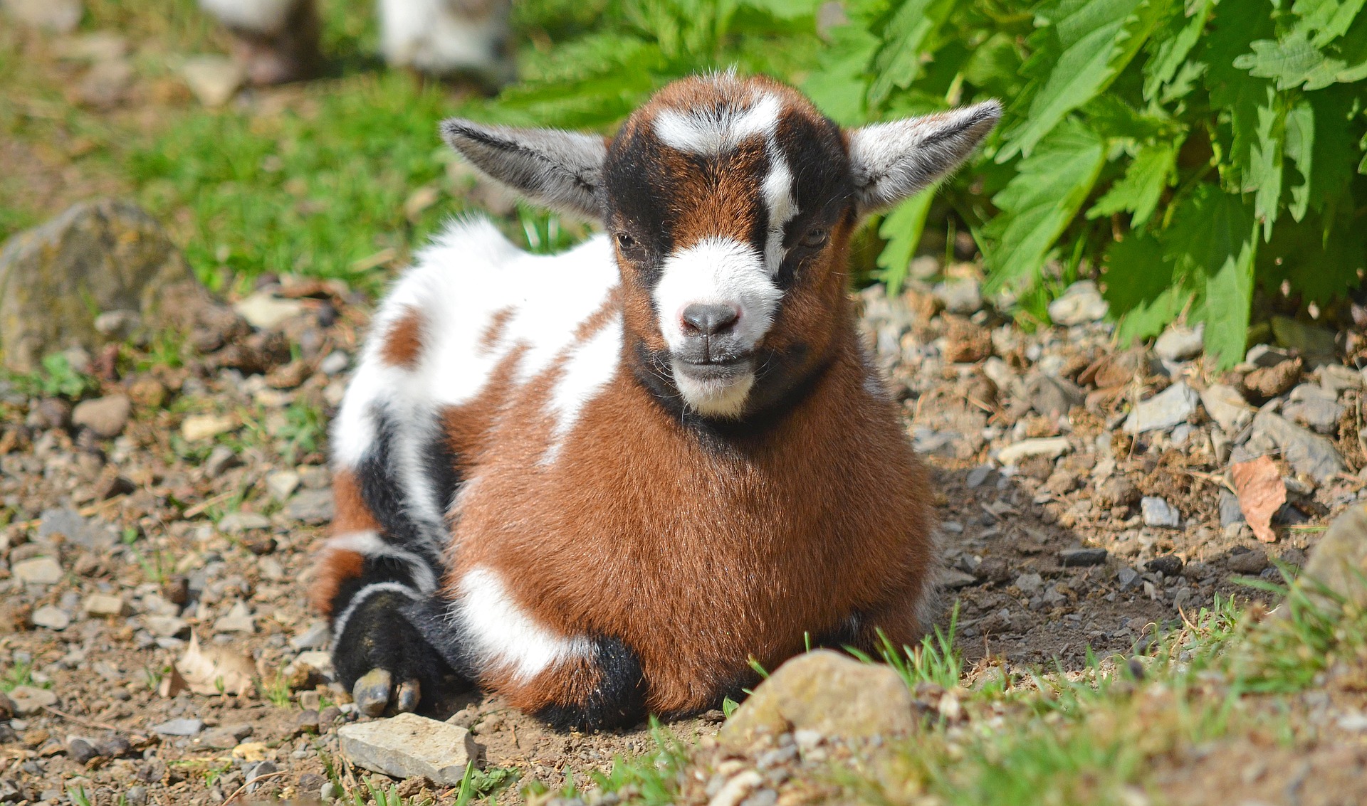
[[[945,190],[988,291],[1100,270],[1122,340],[1185,316],[1243,358],[1255,288],[1325,303],[1367,269],[1367,14],[1348,0],[856,0],[805,82],[846,124],[998,97]],[[931,194],[883,221],[905,276]]]

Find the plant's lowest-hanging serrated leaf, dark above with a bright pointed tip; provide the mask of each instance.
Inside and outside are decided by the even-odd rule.
[[[1202,183],[1163,232],[1174,277],[1199,290],[1192,316],[1206,322],[1206,354],[1221,369],[1244,357],[1254,299],[1258,219],[1244,197]]]

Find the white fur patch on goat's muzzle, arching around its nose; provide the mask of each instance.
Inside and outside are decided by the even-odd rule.
[[[774,322],[783,291],[774,284],[759,254],[733,238],[704,238],[664,260],[655,286],[655,310],[670,350],[684,347],[682,314],[689,305],[734,305],[741,311],[733,333],[750,350]]]

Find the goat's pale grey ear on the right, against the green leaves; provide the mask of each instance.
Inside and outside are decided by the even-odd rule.
[[[986,101],[850,130],[858,212],[886,210],[957,168],[1001,116],[1002,105]]]

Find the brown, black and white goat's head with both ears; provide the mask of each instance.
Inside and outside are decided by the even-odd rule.
[[[789,86],[719,74],[666,86],[608,139],[468,120],[442,131],[493,179],[601,221],[637,376],[737,418],[828,355],[858,217],[953,171],[999,115],[988,101],[842,131]]]

